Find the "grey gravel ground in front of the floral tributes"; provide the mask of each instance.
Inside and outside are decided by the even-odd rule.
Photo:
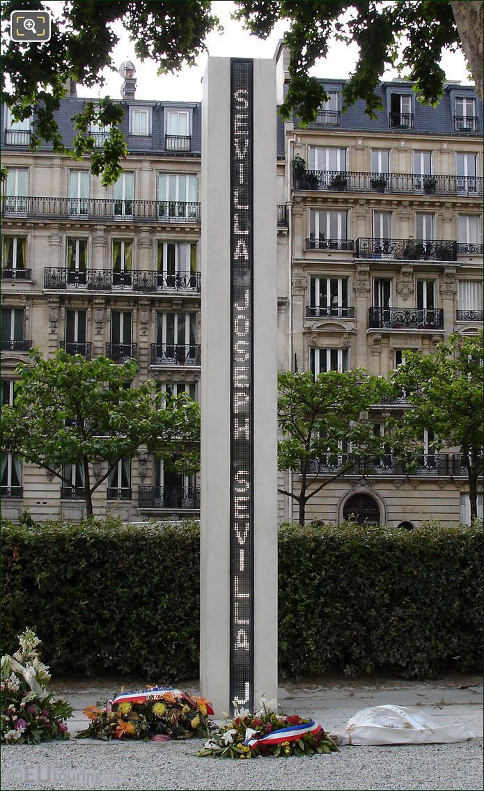
[[[482,739],[459,744],[342,747],[331,755],[251,761],[197,758],[203,742],[92,740],[2,747],[2,789],[316,789],[478,791]]]

